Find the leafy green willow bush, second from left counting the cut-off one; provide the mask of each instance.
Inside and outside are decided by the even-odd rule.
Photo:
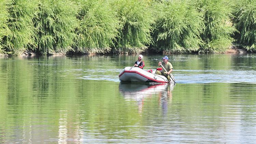
[[[5,51],[19,55],[34,45],[35,28],[33,18],[37,11],[37,1],[12,0],[8,4],[8,27],[10,33],[3,38]]]

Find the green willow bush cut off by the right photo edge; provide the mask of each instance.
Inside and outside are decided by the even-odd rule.
[[[238,43],[249,51],[256,52],[256,1],[237,0],[234,7],[234,22],[239,33],[236,33]]]

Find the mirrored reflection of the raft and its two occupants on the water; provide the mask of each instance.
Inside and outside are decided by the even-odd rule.
[[[120,83],[119,91],[127,101],[136,101],[138,112],[142,113],[144,100],[152,96],[158,97],[159,106],[162,107],[163,114],[167,113],[168,101],[171,102],[172,90],[175,84],[155,84],[155,83]]]

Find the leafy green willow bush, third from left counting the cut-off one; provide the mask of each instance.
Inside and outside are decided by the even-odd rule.
[[[70,0],[41,0],[35,27],[39,30],[38,51],[66,53],[71,49],[77,27],[77,6]]]

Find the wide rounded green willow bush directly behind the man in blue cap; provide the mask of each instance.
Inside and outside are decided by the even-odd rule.
[[[197,51],[202,44],[202,14],[188,2],[174,0],[154,5],[154,49],[167,53]]]

